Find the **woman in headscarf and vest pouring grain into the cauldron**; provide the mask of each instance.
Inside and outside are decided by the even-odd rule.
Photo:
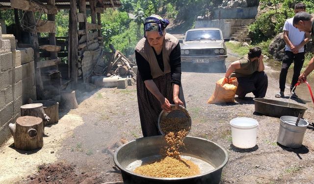
[[[137,101],[144,137],[160,135],[157,121],[161,110],[170,111],[170,104],[185,106],[180,44],[166,33],[168,24],[158,15],[146,18],[144,38],[135,47]]]

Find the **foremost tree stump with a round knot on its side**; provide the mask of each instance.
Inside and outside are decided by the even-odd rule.
[[[44,123],[39,117],[22,116],[9,124],[14,147],[19,150],[35,150],[44,145]]]

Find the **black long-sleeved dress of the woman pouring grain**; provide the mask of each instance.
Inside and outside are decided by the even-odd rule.
[[[155,50],[154,50],[155,52]],[[180,44],[170,53],[170,67],[171,72],[157,77],[155,79],[151,76],[151,70],[149,63],[135,51],[136,62],[138,66],[137,73],[137,102],[138,102],[138,111],[141,121],[141,128],[143,136],[155,136],[161,135],[158,131],[158,116],[162,110],[160,102],[157,98],[146,88],[144,81],[148,79],[153,79],[160,93],[169,100],[171,104],[173,102],[173,87],[172,84],[180,85],[179,98],[185,106],[183,89],[181,86],[181,57],[180,57]],[[163,71],[163,59],[162,52],[157,55],[155,52],[158,65]]]

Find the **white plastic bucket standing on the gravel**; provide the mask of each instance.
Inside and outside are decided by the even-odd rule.
[[[237,148],[248,149],[256,145],[259,122],[252,118],[235,118],[230,121],[232,144]]]

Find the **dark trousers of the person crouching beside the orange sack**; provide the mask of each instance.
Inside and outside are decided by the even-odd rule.
[[[268,78],[265,72],[254,72],[250,77],[236,78],[239,82],[235,94],[244,98],[246,94],[253,93],[255,97],[265,97]]]

